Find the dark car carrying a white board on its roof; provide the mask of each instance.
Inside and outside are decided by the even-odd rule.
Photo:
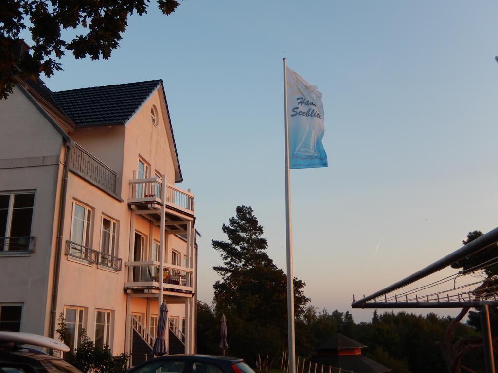
[[[83,373],[62,359],[25,345],[69,351],[53,338],[0,331],[0,373]]]

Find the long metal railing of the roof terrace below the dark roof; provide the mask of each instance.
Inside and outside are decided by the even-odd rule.
[[[102,189],[116,194],[117,174],[80,145],[74,144],[71,147],[68,162],[71,170],[88,178]]]

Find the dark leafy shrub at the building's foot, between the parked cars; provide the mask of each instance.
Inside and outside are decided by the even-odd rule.
[[[69,336],[66,320],[62,312],[59,315],[57,325],[59,326],[56,330],[57,334],[59,334],[59,340],[67,345]],[[125,353],[113,356],[108,345],[104,345],[104,347],[95,346],[90,337],[87,336],[85,329],[81,331],[79,347],[74,352],[64,353],[64,360],[83,372],[88,373],[125,372],[129,357]]]

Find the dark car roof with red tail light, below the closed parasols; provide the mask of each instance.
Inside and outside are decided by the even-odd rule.
[[[212,355],[165,355],[127,373],[254,373],[243,359]]]

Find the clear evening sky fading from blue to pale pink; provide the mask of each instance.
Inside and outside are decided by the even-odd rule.
[[[496,1],[152,0],[107,61],[62,59],[53,91],[162,79],[195,195],[199,299],[211,240],[251,205],[286,268],[282,58],[323,94],[328,168],[291,170],[294,275],[311,304],[356,299],[498,225]],[[29,42],[29,36],[25,35]],[[441,276],[443,277],[443,275]],[[440,314],[455,314],[439,310]]]

